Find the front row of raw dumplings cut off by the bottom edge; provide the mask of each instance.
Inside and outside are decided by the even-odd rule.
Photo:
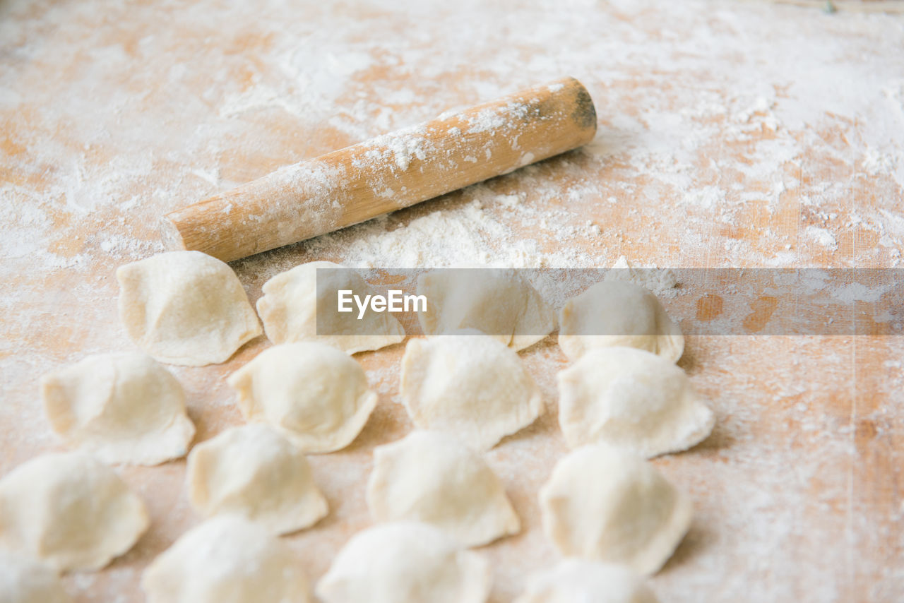
[[[382,523],[355,534],[315,588],[321,601],[484,603],[492,572],[427,523]],[[310,603],[310,584],[287,544],[238,515],[186,532],[142,577],[151,603]],[[70,603],[57,574],[0,551],[0,593],[9,603]],[[628,568],[570,558],[528,580],[516,603],[655,603]]]

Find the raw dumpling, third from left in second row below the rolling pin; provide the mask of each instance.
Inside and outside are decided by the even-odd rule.
[[[447,431],[482,450],[543,413],[518,354],[475,330],[410,340],[400,390],[416,427]]]

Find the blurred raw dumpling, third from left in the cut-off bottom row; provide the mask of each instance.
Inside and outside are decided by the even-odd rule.
[[[483,603],[490,566],[426,523],[384,523],[355,534],[317,583],[323,603]]]

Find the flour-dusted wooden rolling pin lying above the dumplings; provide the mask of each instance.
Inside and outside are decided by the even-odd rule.
[[[167,213],[167,250],[231,261],[370,220],[588,143],[597,113],[565,78],[287,165]]]

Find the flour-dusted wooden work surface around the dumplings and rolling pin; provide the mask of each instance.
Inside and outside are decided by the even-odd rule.
[[[434,202],[232,264],[251,301],[312,259],[358,267],[899,265],[904,17],[758,3],[28,3],[0,7],[0,472],[61,449],[40,376],[132,350],[113,271],[161,250],[158,217],[279,165],[570,74],[598,137]],[[696,297],[664,297],[694,316]],[[242,422],[228,363],[171,367],[196,441]],[[371,523],[375,446],[402,437],[397,345],[357,357],[381,400],[353,445],[312,456],[331,513],[287,539],[312,579]],[[496,603],[557,559],[537,490],[566,448],[554,337],[523,354],[548,411],[488,454],[523,532],[483,551]],[[696,505],[652,580],[663,601],[871,600],[904,593],[904,341],[689,337],[717,412],[659,458]],[[199,522],[184,461],[118,471],[153,527],[77,601],[141,601],[142,569]]]

